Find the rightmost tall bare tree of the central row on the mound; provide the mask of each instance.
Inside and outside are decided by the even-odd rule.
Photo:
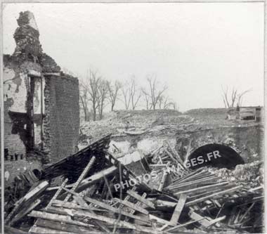
[[[162,98],[164,91],[167,90],[167,86],[164,85],[162,88],[159,88],[156,77],[148,77],[147,81],[149,90],[145,91],[145,89],[143,89],[143,93],[149,96],[152,108],[153,110],[156,110],[157,103],[159,103],[159,100]]]

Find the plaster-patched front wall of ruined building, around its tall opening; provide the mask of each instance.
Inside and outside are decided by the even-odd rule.
[[[27,157],[27,74],[30,72],[40,74],[41,67],[32,61],[15,63],[15,58],[4,56],[4,151],[5,160],[5,186],[11,186],[13,178],[25,169],[40,169],[41,158],[32,161]],[[39,89],[35,90],[40,95]],[[34,115],[39,114],[40,102],[35,101]],[[37,125],[34,122],[35,125]],[[37,140],[40,134],[35,131]],[[38,143],[38,141],[36,141]],[[16,160],[17,159],[17,160]]]

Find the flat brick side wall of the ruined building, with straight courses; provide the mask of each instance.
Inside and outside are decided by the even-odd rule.
[[[79,138],[79,82],[61,74],[46,77],[44,149],[50,162],[76,152]]]

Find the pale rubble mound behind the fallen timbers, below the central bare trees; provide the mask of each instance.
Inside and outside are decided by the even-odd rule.
[[[175,135],[178,128],[188,126],[193,120],[177,110],[117,110],[106,113],[105,119],[83,122],[80,143],[86,145],[104,132],[112,133],[112,138]]]

